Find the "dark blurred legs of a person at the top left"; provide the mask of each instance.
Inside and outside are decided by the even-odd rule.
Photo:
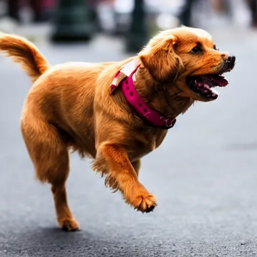
[[[33,22],[43,22],[43,3],[42,0],[27,0],[27,4],[30,6],[33,11]],[[20,22],[20,7],[24,1],[21,0],[8,0],[7,8],[8,8],[8,16]]]

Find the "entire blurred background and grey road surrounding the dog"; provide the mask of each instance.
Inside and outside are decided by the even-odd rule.
[[[218,99],[180,115],[143,159],[153,213],[124,204],[88,160],[71,155],[68,199],[81,231],[65,233],[20,132],[30,78],[0,53],[0,256],[257,256],[256,2],[0,0],[0,31],[28,38],[52,65],[118,61],[181,24],[207,30],[236,56]]]

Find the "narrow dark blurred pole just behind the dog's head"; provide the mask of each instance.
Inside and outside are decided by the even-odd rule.
[[[127,52],[138,52],[148,41],[144,0],[134,0],[134,2],[131,26],[125,37]]]

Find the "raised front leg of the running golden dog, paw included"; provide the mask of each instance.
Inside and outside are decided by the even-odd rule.
[[[106,174],[105,184],[118,189],[125,201],[135,209],[150,212],[157,205],[155,196],[139,182],[126,151],[115,144],[105,143],[97,150],[93,168]]]

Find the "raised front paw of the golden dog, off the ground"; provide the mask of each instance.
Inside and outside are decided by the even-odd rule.
[[[155,196],[152,194],[141,194],[134,199],[133,206],[141,212],[151,212],[157,206]]]

